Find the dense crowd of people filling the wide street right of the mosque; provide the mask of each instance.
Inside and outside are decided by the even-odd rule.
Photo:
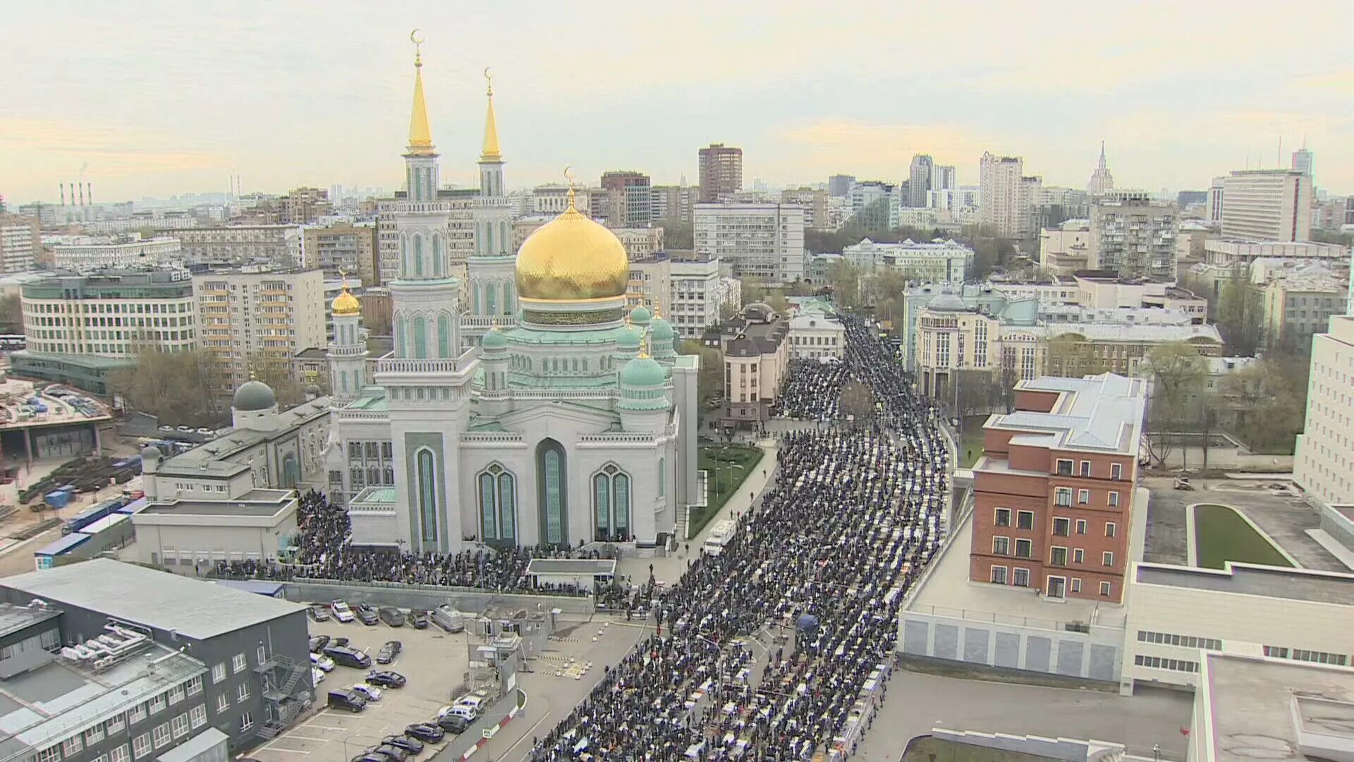
[[[823,415],[858,378],[873,420],[784,437],[761,506],[654,601],[655,632],[536,739],[533,762],[852,751],[835,739],[867,677],[887,670],[898,605],[940,546],[949,456],[890,348],[845,323],[844,373],[806,380],[784,411]]]

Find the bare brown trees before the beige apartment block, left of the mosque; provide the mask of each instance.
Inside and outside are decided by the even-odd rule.
[[[215,359],[204,351],[142,350],[135,365],[115,370],[108,386],[135,411],[180,426],[219,426],[222,409],[214,395]]]

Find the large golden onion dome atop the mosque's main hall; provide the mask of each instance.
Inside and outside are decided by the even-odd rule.
[[[536,300],[626,296],[630,258],[620,239],[573,205],[536,229],[517,251],[517,294]]]

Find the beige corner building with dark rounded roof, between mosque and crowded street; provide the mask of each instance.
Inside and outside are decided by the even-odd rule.
[[[728,428],[754,428],[770,416],[789,367],[789,320],[754,302],[720,327],[724,414]]]

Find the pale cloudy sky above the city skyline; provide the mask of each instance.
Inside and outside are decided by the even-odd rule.
[[[477,183],[492,66],[509,188],[695,184],[709,142],[746,186],[900,180],[914,153],[978,184],[991,151],[1085,187],[1102,140],[1118,187],[1206,188],[1305,140],[1354,193],[1345,1],[0,0],[0,194],[395,188],[416,27],[447,183]]]

